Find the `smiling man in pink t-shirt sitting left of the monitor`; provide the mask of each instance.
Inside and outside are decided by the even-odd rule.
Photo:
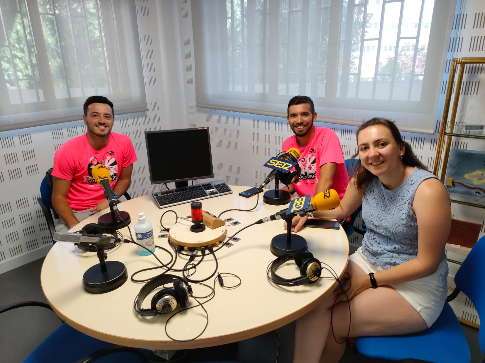
[[[103,188],[93,178],[93,167],[105,165],[110,170],[114,193],[122,196],[128,190],[137,160],[130,138],[111,132],[114,111],[110,100],[91,96],[83,108],[86,134],[66,141],[54,156],[52,205],[59,214],[57,231],[67,231],[109,207]]]

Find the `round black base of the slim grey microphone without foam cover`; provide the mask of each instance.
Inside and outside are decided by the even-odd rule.
[[[123,262],[106,261],[106,272],[101,272],[100,264],[91,266],[82,276],[82,285],[86,292],[103,294],[123,285],[128,279],[128,271]]]

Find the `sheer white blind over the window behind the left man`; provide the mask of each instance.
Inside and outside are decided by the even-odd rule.
[[[134,0],[0,0],[0,131],[146,111]]]

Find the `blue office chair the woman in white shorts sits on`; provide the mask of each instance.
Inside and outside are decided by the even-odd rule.
[[[402,336],[356,338],[362,355],[390,361],[407,359],[434,363],[469,363],[470,350],[452,307],[448,303],[463,291],[475,305],[479,318],[485,317],[485,236],[473,246],[456,272],[456,288],[446,298],[440,316],[431,328]],[[478,333],[480,348],[485,352],[485,332]],[[485,362],[485,361],[484,361]]]

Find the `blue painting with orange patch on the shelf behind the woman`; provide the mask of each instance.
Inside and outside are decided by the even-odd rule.
[[[446,185],[453,193],[485,197],[485,151],[451,149]]]

